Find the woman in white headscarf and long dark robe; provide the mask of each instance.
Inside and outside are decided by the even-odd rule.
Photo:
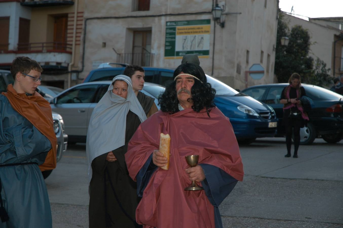
[[[137,184],[129,177],[124,155],[145,119],[130,77],[114,77],[88,126],[89,227],[140,227],[135,222]]]

